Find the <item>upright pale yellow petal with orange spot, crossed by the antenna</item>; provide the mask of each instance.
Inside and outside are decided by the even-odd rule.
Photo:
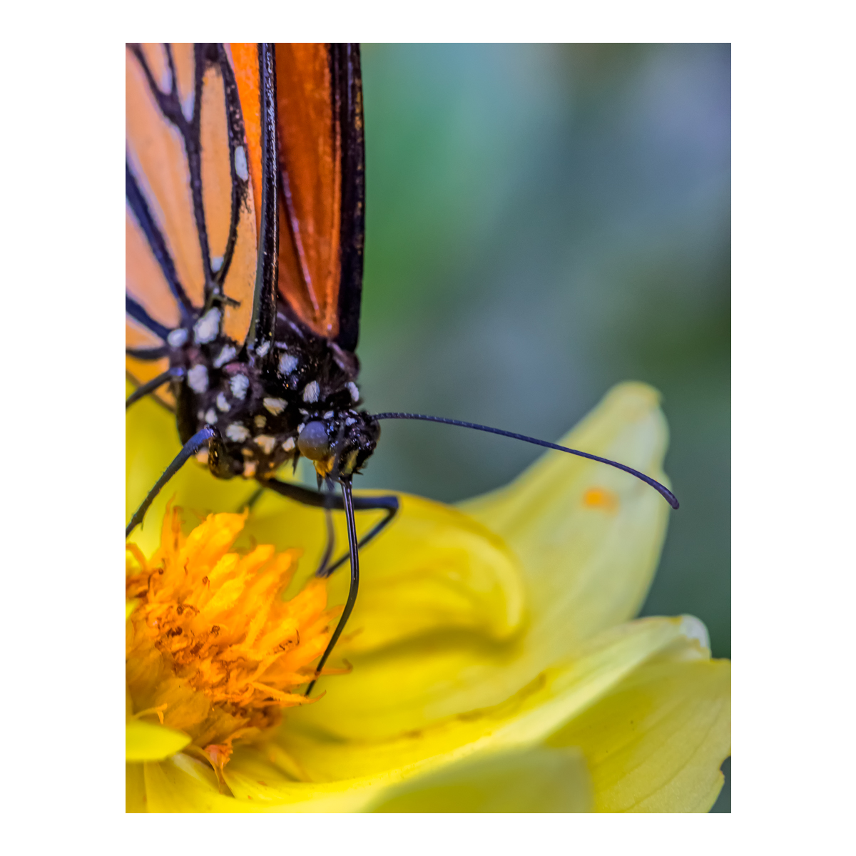
[[[559,443],[669,484],[662,470],[668,429],[658,398],[644,383],[621,383]],[[662,496],[628,473],[556,451],[507,487],[460,508],[520,556],[538,637],[532,646],[541,649],[538,668],[638,612],[672,513]]]

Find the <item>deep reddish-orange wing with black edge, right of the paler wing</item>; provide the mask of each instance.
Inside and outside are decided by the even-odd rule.
[[[357,45],[275,49],[279,293],[317,336],[353,351],[359,332],[364,235],[364,148]],[[261,234],[259,46],[231,55],[247,129]]]

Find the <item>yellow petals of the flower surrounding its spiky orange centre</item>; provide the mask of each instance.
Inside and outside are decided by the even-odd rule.
[[[129,419],[131,507],[175,453],[174,441],[152,443],[175,436],[169,414],[138,407]],[[613,389],[562,440],[661,480],[666,442],[657,394],[638,383]],[[237,510],[253,485],[218,484],[186,467],[168,492],[185,508]],[[143,555],[154,567],[152,520],[166,501],[135,533],[134,569]],[[697,619],[630,621],[668,514],[636,479],[555,452],[460,508],[401,496],[399,518],[361,554],[360,598],[332,658],[353,670],[323,676],[324,698],[313,704],[239,723],[259,730],[233,736],[234,746],[212,723],[214,744],[234,748],[213,766],[211,753],[200,754],[208,734],[168,728],[169,701],[163,726],[157,711],[134,707],[128,810],[709,810],[730,752],[730,664],[710,659]],[[324,547],[318,511],[264,496],[245,535],[273,545],[268,562],[286,562],[274,548],[304,550],[296,569],[286,553],[282,571],[294,571],[286,597],[300,598]],[[337,543],[346,543],[341,526]],[[347,586],[345,574],[331,578],[329,602],[343,603]],[[134,611],[142,608],[138,601]],[[324,639],[320,615],[331,613],[319,609]],[[246,641],[239,634],[235,644]]]

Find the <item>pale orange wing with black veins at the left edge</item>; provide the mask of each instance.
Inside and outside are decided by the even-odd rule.
[[[127,369],[142,383],[167,367],[169,332],[189,329],[217,295],[221,333],[243,344],[256,223],[227,52],[128,45],[125,74]]]

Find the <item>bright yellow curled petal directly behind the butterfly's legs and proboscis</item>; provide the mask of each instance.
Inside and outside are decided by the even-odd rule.
[[[362,491],[358,496],[370,496]],[[520,627],[524,592],[520,565],[501,538],[466,514],[419,496],[398,494],[401,510],[381,538],[360,552],[360,597],[336,657],[351,659],[424,633],[449,630],[504,639]],[[343,514],[335,514],[337,555],[348,549]],[[377,512],[358,513],[360,532]],[[260,542],[324,546],[317,508],[270,496],[259,502],[247,532]],[[300,562],[292,590],[317,568]],[[344,603],[348,562],[330,579],[329,603]]]

